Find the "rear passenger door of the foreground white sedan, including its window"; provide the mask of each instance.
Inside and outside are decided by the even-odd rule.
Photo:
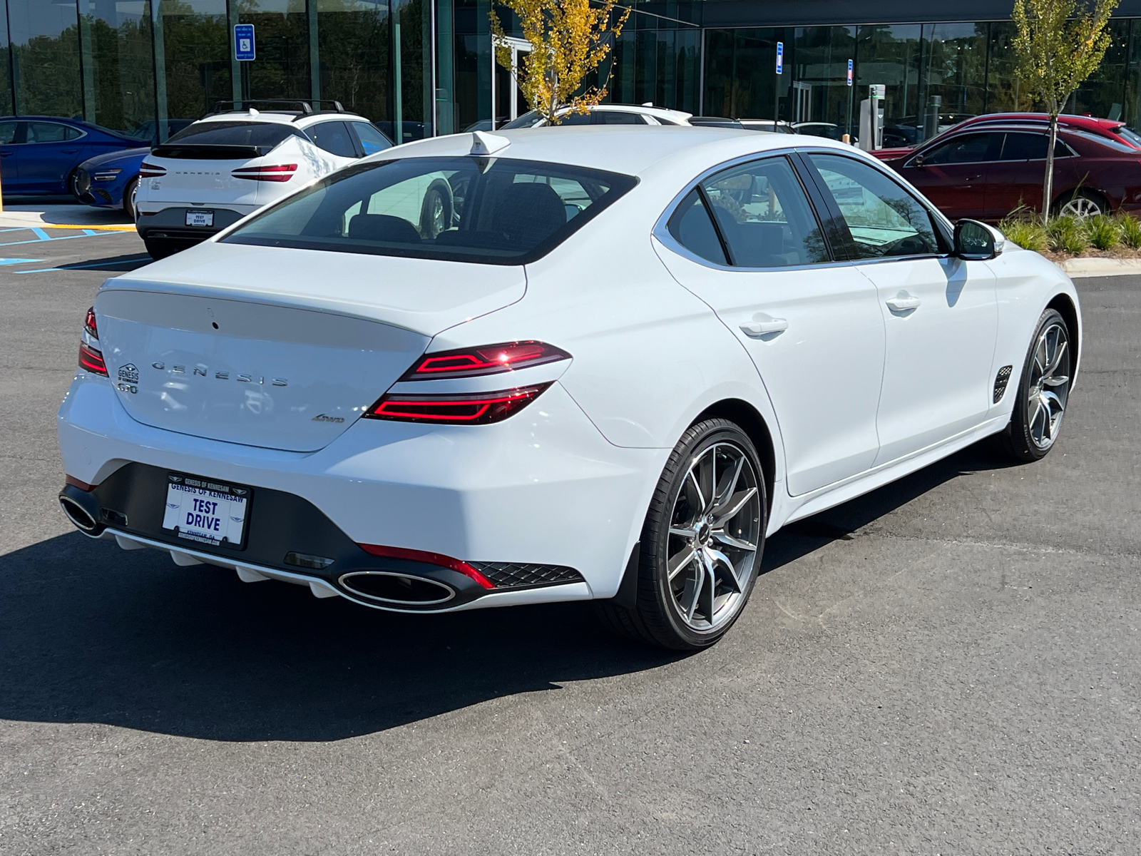
[[[658,255],[748,352],[776,411],[788,492],[868,469],[884,333],[875,286],[835,260],[788,158],[698,184]]]

